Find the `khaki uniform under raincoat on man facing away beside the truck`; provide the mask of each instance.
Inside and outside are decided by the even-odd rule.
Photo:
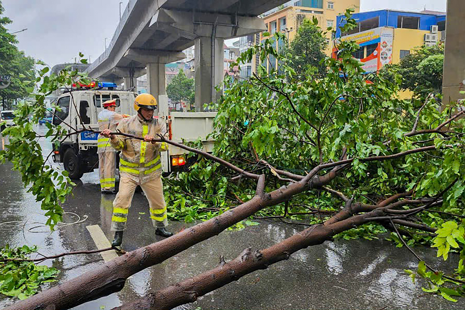
[[[110,129],[114,132],[123,116],[104,109],[99,113],[98,119],[100,131]],[[100,189],[113,191],[115,189],[116,150],[110,145],[110,138],[99,134],[97,153],[99,154]]]

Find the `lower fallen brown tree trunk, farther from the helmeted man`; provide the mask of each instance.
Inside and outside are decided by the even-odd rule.
[[[385,200],[386,201],[386,200]],[[387,204],[388,202],[386,202]],[[180,283],[170,285],[165,289],[150,292],[146,296],[126,303],[113,310],[168,310],[186,303],[193,303],[198,297],[217,290],[220,287],[238,280],[256,270],[266,269],[269,265],[287,260],[293,253],[312,245],[322,244],[342,231],[350,230],[371,221],[371,218],[385,216],[382,202],[378,208],[353,217],[346,217],[347,210],[351,210],[352,199],[347,201],[344,210],[327,220],[324,224],[316,224],[304,231],[263,250],[252,251],[245,249],[238,257],[226,263],[221,260],[218,267],[191,277]],[[354,205],[353,212],[363,211],[365,208]],[[337,220],[337,218],[343,218]]]

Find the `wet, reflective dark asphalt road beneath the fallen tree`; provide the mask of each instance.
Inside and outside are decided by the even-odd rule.
[[[43,131],[43,126],[38,131]],[[0,146],[7,138],[0,137]],[[45,152],[50,143],[42,139]],[[57,165],[59,166],[59,165]],[[86,230],[87,225],[98,224],[111,240],[110,223],[114,195],[100,194],[97,171],[85,174],[74,189],[74,197],[64,205],[65,222],[50,232],[43,226],[44,211],[40,204],[22,186],[20,175],[11,171],[11,164],[0,165],[0,246],[38,245],[44,255],[68,251],[94,250],[96,246]],[[62,168],[62,167],[61,167]],[[139,214],[145,212],[145,214]],[[5,222],[17,221],[12,226]],[[148,203],[140,193],[134,195],[129,211],[128,229],[123,239],[126,251],[161,239],[154,235],[148,218]],[[190,226],[170,222],[169,229],[178,232]],[[219,256],[233,259],[247,248],[269,247],[303,229],[303,226],[260,221],[257,226],[243,231],[224,231],[190,249],[171,257],[162,264],[147,268],[126,281],[118,293],[80,305],[74,309],[108,310],[133,301],[149,290],[157,290],[216,267]],[[458,257],[447,262],[435,257],[433,249],[417,247],[420,256],[427,257],[434,267],[453,268]],[[56,259],[53,264],[61,270],[59,281],[76,277],[103,264],[99,254],[74,255]],[[396,248],[384,240],[339,240],[301,250],[285,262],[267,270],[253,272],[228,284],[198,301],[177,309],[335,309],[335,310],[439,310],[464,309],[465,300],[458,303],[442,297],[425,295],[418,281],[413,284],[404,269],[415,269],[416,260],[405,248]],[[55,285],[55,284],[51,284]],[[47,287],[47,286],[45,286]],[[10,298],[0,299],[0,308],[11,305]]]

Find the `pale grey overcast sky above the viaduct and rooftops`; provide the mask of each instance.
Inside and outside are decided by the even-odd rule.
[[[219,0],[221,1],[221,0]],[[253,0],[247,0],[253,1]],[[337,1],[337,0],[336,0]],[[128,0],[2,0],[5,16],[13,20],[19,48],[50,66],[71,62],[82,52],[91,61],[103,53]],[[397,9],[445,11],[446,0],[360,0],[361,11]]]

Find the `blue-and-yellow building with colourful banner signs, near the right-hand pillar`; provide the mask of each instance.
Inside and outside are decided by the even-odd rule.
[[[353,14],[357,27],[348,33],[338,29],[336,41],[352,40],[359,44],[353,57],[363,63],[365,72],[372,73],[386,64],[397,64],[416,47],[432,46],[445,39],[445,13],[380,10]],[[345,23],[338,16],[339,24]],[[336,58],[333,48],[332,57]]]

